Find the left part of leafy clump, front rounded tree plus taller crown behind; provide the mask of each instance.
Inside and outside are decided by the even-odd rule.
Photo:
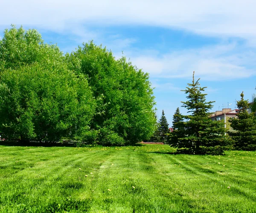
[[[91,140],[95,101],[84,76],[36,30],[5,30],[0,40],[0,132],[7,139]]]

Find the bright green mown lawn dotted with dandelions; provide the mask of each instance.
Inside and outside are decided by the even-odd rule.
[[[256,152],[174,151],[0,146],[0,212],[256,212]]]

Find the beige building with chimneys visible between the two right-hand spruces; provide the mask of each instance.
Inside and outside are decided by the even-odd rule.
[[[238,109],[222,109],[221,111],[216,111],[211,114],[212,121],[221,121],[224,120],[225,127],[230,128],[229,123],[227,122],[230,118],[237,118]]]

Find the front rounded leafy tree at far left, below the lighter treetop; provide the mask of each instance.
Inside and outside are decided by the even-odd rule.
[[[95,106],[88,83],[64,67],[34,63],[6,69],[0,97],[0,131],[5,138],[56,142],[90,130]]]

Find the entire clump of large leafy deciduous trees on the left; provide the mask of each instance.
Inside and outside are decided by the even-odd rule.
[[[92,41],[64,55],[35,29],[12,26],[0,40],[0,134],[25,142],[135,144],[155,130],[148,78]]]

